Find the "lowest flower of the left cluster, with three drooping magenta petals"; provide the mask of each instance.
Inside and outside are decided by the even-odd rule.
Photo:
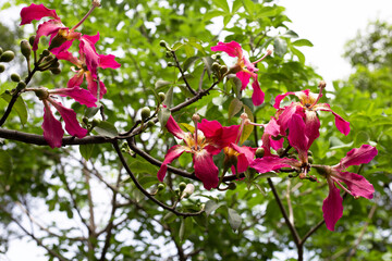
[[[76,136],[78,138],[83,138],[86,136],[87,129],[81,127],[76,119],[76,113],[72,109],[63,107],[62,103],[57,101],[52,95],[70,97],[79,102],[81,104],[85,104],[87,107],[96,107],[97,99],[91,96],[89,91],[79,87],[73,87],[53,90],[39,88],[35,89],[35,92],[44,102],[44,138],[48,141],[51,148],[61,147],[64,130],[62,128],[61,122],[53,116],[50,104],[56,108],[56,110],[60,113],[61,117],[64,120],[65,129],[70,135]]]

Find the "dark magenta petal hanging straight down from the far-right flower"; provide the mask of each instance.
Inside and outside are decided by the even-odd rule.
[[[343,199],[340,196],[340,190],[333,184],[333,181],[327,179],[329,185],[329,195],[323,200],[322,212],[327,228],[334,231],[336,222],[343,215]]]

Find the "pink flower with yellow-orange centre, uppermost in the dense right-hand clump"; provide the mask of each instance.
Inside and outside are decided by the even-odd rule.
[[[333,112],[330,109],[328,103],[317,103],[318,100],[322,96],[322,89],[324,84],[320,84],[320,94],[316,95],[307,90],[295,91],[295,92],[286,92],[284,95],[277,96],[274,108],[278,110],[282,110],[282,113],[279,116],[278,123],[281,125],[282,132],[284,133],[289,128],[289,123],[293,120],[294,114],[298,114],[301,121],[305,122],[305,134],[308,138],[308,147],[313,144],[313,141],[320,136],[319,128],[320,128],[320,121],[317,116],[317,111],[330,111],[335,116],[335,125],[338,129],[344,134],[348,135],[350,133],[350,123],[344,121],[340,115]],[[284,109],[280,108],[281,101],[284,97],[289,95],[295,95],[299,98],[299,102],[292,102],[290,105],[285,107]]]

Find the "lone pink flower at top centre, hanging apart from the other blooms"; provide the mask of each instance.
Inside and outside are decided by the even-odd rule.
[[[257,80],[257,74],[256,72],[258,69],[255,67],[255,64],[262,61],[267,55],[271,53],[271,51],[268,51],[268,53],[261,58],[260,60],[250,63],[246,58],[243,55],[243,50],[238,42],[231,41],[231,42],[218,42],[218,46],[211,47],[212,51],[224,51],[230,57],[237,58],[236,64],[234,64],[229,73],[235,73],[235,75],[241,79],[242,87],[241,89],[244,90],[246,86],[249,84],[250,77],[253,78],[252,87],[254,89],[254,92],[252,95],[252,100],[255,105],[260,105],[264,102],[265,94],[262,92],[260,85]]]

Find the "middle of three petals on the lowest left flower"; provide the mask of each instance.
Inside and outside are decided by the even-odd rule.
[[[58,110],[61,117],[64,120],[65,129],[70,135],[78,138],[83,138],[87,135],[87,129],[81,127],[76,119],[76,112],[72,109],[63,107],[61,102],[58,102],[50,97],[48,98],[48,101],[56,108],[56,110]]]

